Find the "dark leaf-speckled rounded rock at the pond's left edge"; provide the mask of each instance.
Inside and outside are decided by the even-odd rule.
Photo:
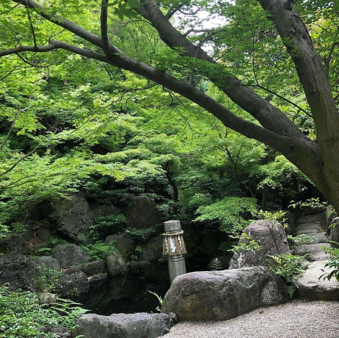
[[[61,297],[76,297],[88,292],[87,276],[82,272],[64,274],[56,285],[56,291]]]

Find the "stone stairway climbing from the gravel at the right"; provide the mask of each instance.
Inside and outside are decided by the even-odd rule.
[[[323,214],[303,216],[297,220],[296,235],[305,234],[307,236],[316,236],[316,240],[304,245],[301,254],[308,253],[307,260],[310,261],[306,271],[298,278],[298,289],[296,291],[298,298],[312,300],[339,300],[339,282],[332,278],[331,281],[323,280],[319,277],[329,269],[324,265],[330,258],[322,250],[323,246],[331,246],[326,243],[329,238],[325,230],[321,227],[321,218]]]

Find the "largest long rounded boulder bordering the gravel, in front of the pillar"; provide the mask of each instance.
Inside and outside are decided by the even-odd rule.
[[[161,312],[180,321],[225,320],[287,299],[285,284],[266,267],[191,272],[173,280]]]

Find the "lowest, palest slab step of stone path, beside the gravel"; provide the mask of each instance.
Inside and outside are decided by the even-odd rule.
[[[319,277],[324,274],[321,269],[330,272],[332,269],[324,268],[327,261],[310,263],[305,273],[298,278],[298,298],[313,300],[339,300],[339,282],[333,277],[330,281]]]

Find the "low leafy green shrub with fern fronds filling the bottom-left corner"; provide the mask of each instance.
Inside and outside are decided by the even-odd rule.
[[[47,308],[39,304],[35,293],[10,292],[8,286],[3,285],[0,287],[0,337],[55,337],[53,333],[39,331],[43,325],[60,325],[73,331],[77,319],[87,312],[79,305],[57,299],[51,308]]]

